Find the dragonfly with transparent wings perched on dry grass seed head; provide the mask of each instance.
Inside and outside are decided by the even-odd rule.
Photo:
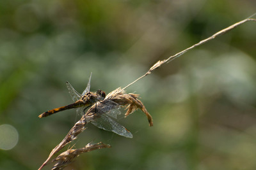
[[[117,115],[121,114],[118,107],[116,107],[116,109],[110,110],[106,113],[102,113],[102,111],[100,111],[97,108],[97,102],[99,102],[99,104],[102,105],[103,102],[100,102],[100,101],[104,101],[104,100],[108,100],[108,99],[105,99],[106,93],[103,92],[102,90],[97,90],[97,92],[90,92],[91,78],[92,78],[92,74],[89,78],[88,85],[82,94],[79,94],[79,92],[77,92],[72,87],[72,85],[70,83],[68,83],[68,81],[67,81],[67,89],[68,89],[68,92],[72,98],[72,101],[74,101],[74,103],[68,104],[67,106],[62,106],[60,108],[46,111],[46,112],[42,113],[41,115],[39,115],[38,117],[39,118],[47,117],[54,113],[58,113],[58,112],[64,111],[64,110],[69,110],[72,108],[76,108],[77,114],[84,115],[85,114],[84,111],[87,108],[90,108],[91,106],[93,106],[93,104],[95,104],[95,109],[97,111],[99,111],[100,114],[97,116],[97,118],[85,117],[87,123],[90,122],[91,124],[95,125],[96,127],[99,127],[100,129],[103,129],[105,131],[115,132],[116,134],[118,134],[120,136],[124,136],[126,138],[132,138],[132,134],[130,131],[128,131],[124,126],[118,124],[115,120],[113,120],[113,118],[116,118]],[[109,101],[105,101],[104,103],[106,103],[106,106],[104,106],[104,107],[108,108],[108,103],[113,104],[114,102],[109,100]]]

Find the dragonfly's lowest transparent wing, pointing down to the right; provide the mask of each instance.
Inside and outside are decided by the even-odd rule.
[[[94,120],[90,120],[90,122],[99,127],[100,129],[103,129],[105,131],[111,131],[115,132],[116,134],[120,136],[124,136],[126,138],[132,138],[131,132],[129,132],[124,126],[118,124],[111,118],[109,118],[106,115],[101,115],[99,118],[95,118]]]

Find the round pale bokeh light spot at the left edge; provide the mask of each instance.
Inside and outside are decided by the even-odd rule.
[[[0,125],[0,149],[11,150],[17,145],[19,134],[15,127],[8,124]]]

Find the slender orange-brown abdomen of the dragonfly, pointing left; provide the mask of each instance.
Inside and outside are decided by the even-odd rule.
[[[58,112],[63,111],[63,110],[70,110],[70,109],[73,109],[73,108],[79,108],[79,107],[87,106],[87,105],[89,105],[89,103],[84,103],[83,100],[79,100],[79,101],[76,101],[75,103],[68,104],[67,106],[62,106],[60,108],[56,108],[56,109],[53,109],[53,110],[45,111],[44,113],[42,113],[38,117],[39,118],[48,117],[49,115],[52,115],[54,113],[58,113]]]

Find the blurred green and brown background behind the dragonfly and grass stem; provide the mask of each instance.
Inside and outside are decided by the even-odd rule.
[[[38,169],[79,119],[75,110],[38,118],[72,102],[65,81],[83,92],[92,72],[92,91],[125,87],[255,7],[254,0],[0,1],[0,145],[15,146],[0,149],[0,169]],[[132,139],[88,125],[71,146],[112,148],[84,153],[67,169],[256,169],[255,30],[241,25],[129,87],[154,127],[141,111],[118,118]]]

